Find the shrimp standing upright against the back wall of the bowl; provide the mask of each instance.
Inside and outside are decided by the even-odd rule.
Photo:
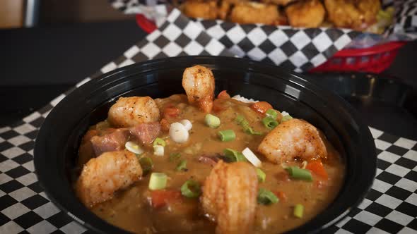
[[[214,75],[204,66],[186,68],[182,75],[182,87],[187,94],[188,102],[196,104],[208,113],[213,108]]]

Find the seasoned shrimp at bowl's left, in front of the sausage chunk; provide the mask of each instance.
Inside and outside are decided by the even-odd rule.
[[[128,187],[142,176],[134,153],[127,150],[105,152],[90,159],[76,183],[76,193],[86,207],[111,199],[119,189]]]

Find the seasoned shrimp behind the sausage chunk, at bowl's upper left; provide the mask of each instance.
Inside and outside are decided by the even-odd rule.
[[[151,97],[121,97],[110,107],[108,121],[117,128],[159,121],[158,106]]]

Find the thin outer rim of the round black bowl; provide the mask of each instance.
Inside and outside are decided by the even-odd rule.
[[[71,218],[74,218],[74,220],[77,221],[78,223],[81,223],[81,225],[86,226],[86,228],[90,230],[94,230],[98,233],[107,233],[108,231],[110,231],[109,233],[129,233],[127,230],[123,230],[122,228],[113,226],[112,224],[107,223],[106,221],[103,221],[101,218],[98,218],[97,216],[96,217],[100,219],[100,221],[102,221],[102,222],[99,222],[100,224],[102,224],[100,228],[98,228],[97,226],[91,225],[90,223],[86,221],[83,221],[82,218],[73,214],[76,212],[73,211],[73,213],[71,213],[71,211],[73,210],[73,207],[68,207],[67,205],[64,205],[62,201],[59,201],[59,199],[57,199],[57,191],[54,191],[54,187],[49,186],[49,183],[47,182],[47,180],[50,175],[48,173],[45,173],[45,168],[47,167],[47,165],[42,164],[40,157],[45,156],[46,154],[45,147],[47,145],[47,135],[49,134],[51,130],[53,130],[50,122],[52,121],[52,118],[57,117],[57,114],[59,113],[59,109],[65,108],[67,102],[69,102],[69,99],[71,97],[76,96],[76,94],[81,94],[84,90],[92,89],[96,91],[100,89],[100,86],[98,85],[100,85],[101,83],[106,83],[107,85],[110,85],[112,82],[117,82],[117,80],[122,79],[124,77],[123,75],[129,76],[129,74],[124,74],[124,73],[129,73],[129,70],[138,69],[138,70],[141,70],[141,72],[146,72],[147,69],[151,69],[151,70],[156,69],[154,67],[158,66],[159,63],[170,63],[170,62],[180,63],[181,61],[184,61],[184,60],[187,61],[187,59],[192,59],[193,61],[195,61],[194,64],[203,64],[203,63],[199,63],[199,61],[206,61],[204,64],[216,64],[216,63],[221,63],[225,61],[233,62],[233,63],[245,63],[246,66],[242,66],[242,70],[255,71],[254,68],[262,68],[262,69],[269,70],[269,72],[271,73],[281,74],[284,80],[295,82],[295,84],[297,84],[296,81],[304,82],[305,84],[308,84],[308,90],[315,90],[316,92],[319,92],[322,96],[326,98],[334,99],[336,102],[338,102],[341,105],[341,108],[344,109],[344,111],[346,111],[346,113],[351,115],[351,117],[355,120],[356,125],[361,133],[361,140],[363,140],[364,144],[367,144],[368,147],[370,147],[368,148],[368,151],[367,151],[368,157],[372,156],[372,159],[374,159],[374,160],[369,161],[369,163],[371,164],[370,166],[372,166],[374,170],[368,173],[368,177],[367,177],[368,181],[362,181],[362,183],[360,184],[363,184],[365,182],[367,183],[363,184],[360,194],[356,195],[357,199],[355,199],[355,202],[351,202],[351,204],[349,204],[349,206],[346,207],[344,211],[338,212],[340,213],[339,216],[332,218],[330,221],[327,221],[326,223],[322,223],[321,226],[315,227],[314,230],[309,230],[309,229],[304,228],[307,223],[310,223],[310,221],[315,219],[315,218],[312,218],[312,220],[307,221],[307,223],[304,223],[302,226],[298,226],[297,228],[294,228],[293,230],[288,230],[286,233],[317,233],[320,230],[324,230],[325,228],[328,228],[334,223],[341,221],[342,218],[345,218],[346,216],[348,216],[348,214],[351,214],[351,212],[353,212],[353,208],[357,207],[358,204],[360,204],[360,202],[363,201],[363,199],[365,198],[365,195],[368,194],[370,188],[372,187],[372,183],[376,175],[377,154],[375,150],[375,142],[373,140],[373,137],[370,133],[368,126],[365,125],[365,123],[362,121],[360,116],[358,116],[358,113],[353,109],[353,107],[350,104],[348,104],[347,101],[339,97],[339,95],[330,92],[329,90],[324,90],[321,87],[318,87],[314,82],[310,82],[309,78],[303,78],[303,75],[301,74],[293,73],[288,70],[278,68],[277,66],[274,66],[272,64],[262,63],[259,61],[252,61],[247,58],[235,58],[235,57],[226,57],[226,56],[181,56],[181,57],[170,57],[170,58],[158,58],[155,60],[144,61],[141,63],[134,63],[132,65],[124,66],[122,68],[117,68],[108,73],[104,73],[98,76],[97,78],[94,78],[86,82],[81,87],[78,87],[76,90],[73,90],[71,93],[67,94],[66,97],[64,97],[64,99],[62,99],[59,102],[59,104],[57,104],[57,106],[55,106],[52,109],[52,111],[50,111],[47,118],[45,118],[45,121],[42,124],[42,127],[40,128],[39,133],[37,135],[33,160],[35,164],[35,173],[37,174],[37,178],[39,180],[40,185],[42,186],[45,193],[47,194],[47,197],[55,205],[57,205],[57,207],[59,207],[61,211],[71,216]],[[117,76],[121,76],[121,78],[117,78]],[[307,89],[307,87],[305,88]],[[372,180],[370,180],[371,177],[372,177]],[[73,192],[73,196],[75,197],[74,192]],[[81,202],[79,203],[81,204]],[[84,208],[87,209],[86,207]],[[93,214],[91,211],[89,212]],[[323,213],[323,211],[321,213]]]

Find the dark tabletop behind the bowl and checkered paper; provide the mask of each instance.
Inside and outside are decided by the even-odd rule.
[[[145,36],[133,20],[0,30],[0,126],[47,104]],[[382,75],[413,87],[403,103],[346,97],[368,125],[417,139],[416,60],[417,42],[410,42]]]

